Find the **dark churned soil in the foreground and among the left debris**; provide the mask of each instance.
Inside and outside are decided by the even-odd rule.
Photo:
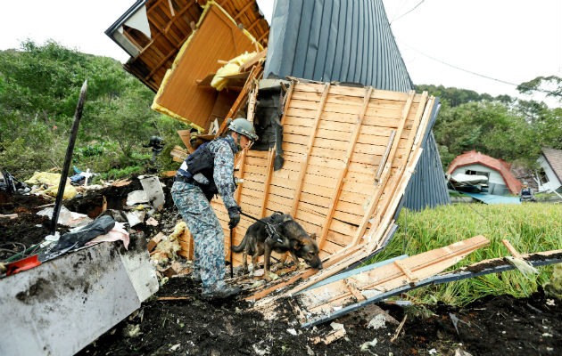
[[[129,230],[131,241],[145,243],[160,231],[168,233],[178,221],[178,212],[169,197],[171,182],[164,183],[167,203],[161,214],[154,215],[159,225],[137,225]],[[122,209],[128,192],[139,189],[138,180],[132,179],[122,187],[87,191],[64,205],[95,217],[101,212],[103,197],[108,208]],[[13,254],[21,248],[14,241],[26,247],[41,242],[49,232],[50,222],[35,213],[39,206],[49,203],[40,197],[0,192],[0,214],[18,214],[16,219],[0,218],[2,248],[12,248]],[[67,231],[62,226],[57,229]],[[4,260],[6,255],[0,258]],[[367,312],[367,307],[334,320],[343,324],[346,334],[327,345],[314,344],[313,339],[331,332],[331,322],[300,328],[287,300],[279,303],[275,320],[265,320],[260,312],[251,310],[251,303],[240,299],[207,302],[200,295],[200,283],[188,275],[172,277],[138,311],[87,345],[79,355],[454,355],[459,351],[502,356],[562,354],[562,301],[545,297],[541,290],[524,299],[489,296],[463,308],[442,303],[406,307],[377,303],[395,320],[407,316],[393,342],[390,340],[399,328],[398,322],[368,328],[374,314]],[[161,299],[167,297],[178,299]],[[456,328],[452,320],[459,320]],[[132,336],[130,330],[135,328],[140,333]],[[368,342],[375,345],[361,351],[361,345]]]

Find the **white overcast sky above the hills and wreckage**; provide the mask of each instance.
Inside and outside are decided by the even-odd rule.
[[[3,3],[0,50],[18,48],[28,37],[38,43],[52,38],[81,52],[128,59],[103,31],[134,0]],[[258,4],[269,20],[273,0]],[[415,84],[514,96],[514,85],[478,75],[516,85],[562,77],[561,0],[384,0],[384,7]]]

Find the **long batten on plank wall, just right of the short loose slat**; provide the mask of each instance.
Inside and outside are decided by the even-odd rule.
[[[360,237],[363,236],[363,233],[365,232],[365,230],[367,230],[368,221],[370,220],[371,215],[375,212],[375,208],[379,204],[379,199],[381,198],[384,188],[386,187],[386,183],[388,182],[388,178],[391,175],[391,171],[392,171],[391,168],[393,167],[394,156],[396,155],[396,151],[398,150],[398,144],[402,136],[402,131],[404,130],[404,126],[406,125],[406,120],[408,119],[408,115],[409,115],[409,109],[412,106],[412,101],[414,101],[415,95],[416,95],[415,91],[412,90],[409,92],[408,100],[406,101],[406,104],[402,109],[401,122],[396,132],[396,138],[394,139],[393,142],[393,148],[391,149],[391,153],[389,155],[388,161],[386,162],[386,166],[384,167],[382,179],[376,185],[376,191],[375,194],[373,194],[373,196],[371,197],[371,201],[369,202],[367,213],[363,215],[360,226],[355,232],[355,236],[353,238],[353,241],[351,242],[351,244],[353,245],[357,244]]]

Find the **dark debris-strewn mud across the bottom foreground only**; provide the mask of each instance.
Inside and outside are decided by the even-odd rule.
[[[369,320],[358,312],[335,320],[343,323],[346,336],[327,345],[314,344],[312,339],[325,336],[332,329],[329,325],[300,328],[289,308],[278,308],[277,320],[264,320],[259,312],[248,311],[251,304],[247,302],[208,303],[199,297],[200,292],[187,277],[169,279],[139,311],[79,354],[453,355],[458,349],[472,355],[562,352],[562,302],[553,302],[541,292],[525,299],[487,297],[465,308],[437,304],[404,309],[379,303],[396,320],[408,314],[394,342],[390,339],[396,325],[367,328]],[[185,299],[159,300],[170,296]],[[462,320],[457,324],[458,332],[453,318]],[[124,336],[136,325],[141,335]],[[362,344],[374,339],[374,347],[361,351]]]

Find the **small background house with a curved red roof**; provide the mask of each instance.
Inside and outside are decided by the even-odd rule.
[[[521,182],[509,172],[508,162],[486,156],[475,150],[464,152],[450,163],[447,174],[455,180],[464,180],[465,175],[478,175],[488,178],[488,194],[519,194]]]

